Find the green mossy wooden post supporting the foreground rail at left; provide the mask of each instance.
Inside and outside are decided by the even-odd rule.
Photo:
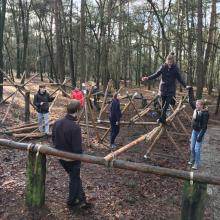
[[[25,204],[39,208],[45,201],[46,155],[28,152]]]

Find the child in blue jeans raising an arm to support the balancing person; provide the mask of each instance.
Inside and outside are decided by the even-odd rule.
[[[202,141],[207,130],[209,120],[208,109],[205,108],[203,100],[195,101],[193,88],[189,88],[189,103],[194,110],[192,118],[192,135],[191,135],[191,160],[189,165],[193,165],[192,169],[198,169],[200,164],[200,151]]]

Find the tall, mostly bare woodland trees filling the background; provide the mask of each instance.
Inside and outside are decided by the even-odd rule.
[[[120,79],[140,85],[173,51],[201,98],[203,88],[220,87],[218,7],[217,0],[3,0],[0,67],[15,78],[70,77],[73,86],[105,87],[110,78],[116,87]]]

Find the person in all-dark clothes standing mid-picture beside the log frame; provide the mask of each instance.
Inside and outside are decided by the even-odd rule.
[[[110,134],[110,146],[111,148],[116,148],[115,146],[115,138],[117,137],[120,129],[120,119],[121,119],[121,109],[120,109],[120,101],[117,98],[118,93],[113,95],[109,120],[111,123],[111,134]]]

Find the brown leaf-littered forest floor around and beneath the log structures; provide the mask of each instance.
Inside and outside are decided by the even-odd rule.
[[[35,83],[35,86],[29,87],[31,94],[36,91],[38,81]],[[5,94],[9,94],[12,90],[8,87]],[[50,87],[48,90],[53,91],[55,88]],[[129,89],[131,93],[134,91],[141,91],[144,96],[152,97],[152,92],[147,91],[146,88]],[[122,90],[122,94],[125,92],[125,89]],[[219,120],[219,115],[214,116],[213,114],[216,97],[207,96],[207,98],[211,104],[209,107],[211,118]],[[58,98],[51,114],[56,118],[64,115],[63,106],[66,102],[66,98]],[[127,101],[124,100],[123,102],[126,103]],[[135,102],[136,106],[140,108],[140,100]],[[0,118],[4,117],[7,106],[8,104],[0,106]],[[1,125],[1,130],[22,123],[24,120],[23,106],[23,98],[18,96],[7,120],[4,125]],[[192,114],[189,106],[187,112],[189,115]],[[130,107],[129,111],[123,116],[123,120],[129,119],[133,115],[135,115],[134,110]],[[32,109],[32,120],[35,116]],[[103,118],[107,119],[107,114],[103,115]],[[190,122],[186,120],[184,115],[180,115],[180,118],[190,133]],[[145,119],[146,121],[155,120],[149,116]],[[123,146],[152,128],[153,126],[123,126],[116,143]],[[0,135],[0,138],[16,140],[4,134]],[[176,142],[187,157],[189,156],[189,138],[175,136]],[[49,145],[52,145],[51,140],[45,138],[25,140],[25,142],[32,143],[48,143],[48,141]],[[146,161],[143,155],[148,147],[143,142],[119,158],[180,170],[189,169],[186,161],[181,158],[165,135],[157,142],[150,159]],[[105,146],[84,147],[84,150],[86,154],[99,156],[107,155],[110,152]],[[27,210],[24,206],[27,153],[3,146],[0,146],[0,151],[0,219],[180,219],[183,181],[85,163],[82,165],[81,176],[88,201],[92,202],[93,207],[90,210],[70,211],[66,207],[68,176],[57,159],[52,157],[47,157],[45,206],[34,212]],[[211,220],[211,216],[211,208],[207,206],[205,219]]]

